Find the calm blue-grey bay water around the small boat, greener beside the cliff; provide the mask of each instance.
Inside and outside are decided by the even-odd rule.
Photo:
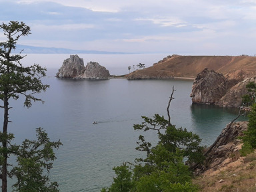
[[[237,116],[233,109],[192,105],[189,80],[65,80],[53,74],[44,80],[51,87],[39,95],[45,104],[35,103],[27,110],[21,100],[10,102],[9,132],[20,143],[35,138],[35,128],[41,127],[52,140],[61,140],[51,177],[63,192],[108,187],[112,167],[141,154],[135,147],[139,134],[145,133],[134,131],[133,124],[139,124],[141,116],[167,116],[173,86],[172,124],[199,134],[203,145],[212,144]],[[145,136],[157,142],[155,132]]]

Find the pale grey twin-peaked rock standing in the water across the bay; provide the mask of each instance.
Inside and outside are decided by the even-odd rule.
[[[59,68],[56,76],[58,78],[93,78],[93,79],[105,79],[109,78],[109,70],[104,66],[101,66],[97,62],[88,62],[85,66],[83,58],[79,56],[71,55],[63,61],[63,65]]]

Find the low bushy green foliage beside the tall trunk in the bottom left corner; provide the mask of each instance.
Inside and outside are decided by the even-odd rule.
[[[48,173],[56,159],[53,150],[62,145],[60,141],[51,142],[47,133],[41,128],[37,129],[37,140],[25,140],[21,145],[11,145],[13,134],[5,135],[0,132],[0,140],[3,138],[8,141],[9,147],[7,149],[0,147],[0,154],[7,150],[16,157],[17,165],[8,173],[9,177],[17,181],[13,185],[13,191],[59,191],[57,182],[51,182]],[[3,156],[0,157],[0,161],[3,161]]]

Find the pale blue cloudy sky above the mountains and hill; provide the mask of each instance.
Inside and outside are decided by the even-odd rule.
[[[255,0],[0,0],[22,45],[167,54],[256,54]],[[3,41],[2,34],[0,40]]]

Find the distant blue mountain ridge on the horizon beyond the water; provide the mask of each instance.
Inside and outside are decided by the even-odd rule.
[[[130,54],[129,52],[109,52],[101,50],[74,50],[69,48],[56,48],[56,47],[33,47],[28,45],[17,45],[17,48],[13,51],[19,53],[23,50],[23,53],[33,54]]]

